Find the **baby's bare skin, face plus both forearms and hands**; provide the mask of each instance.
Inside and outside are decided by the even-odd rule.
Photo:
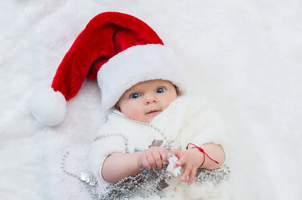
[[[150,123],[154,117],[162,113],[176,99],[176,87],[170,81],[150,80],[140,82],[127,90],[116,103],[115,108],[132,120]],[[201,164],[203,164],[202,168],[205,169],[217,169],[224,163],[224,152],[220,145],[209,143],[200,147],[217,160],[219,164],[207,157],[204,160],[203,154],[197,148],[182,152],[170,151],[179,159],[176,167],[185,166],[181,181],[185,181],[186,177],[190,175],[189,185],[192,184],[196,170]],[[125,176],[139,173],[139,169],[142,167],[162,169],[163,164],[167,164],[167,160],[168,154],[161,147],[151,147],[144,152],[127,155],[116,153],[106,159],[101,173],[106,181],[114,183]],[[123,167],[112,170],[114,166]]]

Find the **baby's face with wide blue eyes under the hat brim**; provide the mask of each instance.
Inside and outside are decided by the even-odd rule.
[[[150,123],[176,98],[175,86],[170,81],[150,80],[127,90],[115,108],[130,119]]]

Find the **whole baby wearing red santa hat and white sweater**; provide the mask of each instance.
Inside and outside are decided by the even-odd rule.
[[[178,56],[147,24],[101,13],[66,53],[52,88],[33,96],[31,110],[40,122],[56,125],[85,78],[98,80],[108,114],[89,161],[97,197],[111,199],[109,192],[112,199],[228,199],[228,184],[215,185],[224,179],[225,127],[204,100],[192,96],[185,74]],[[129,179],[135,188],[121,188]],[[117,197],[112,187],[134,194]]]

